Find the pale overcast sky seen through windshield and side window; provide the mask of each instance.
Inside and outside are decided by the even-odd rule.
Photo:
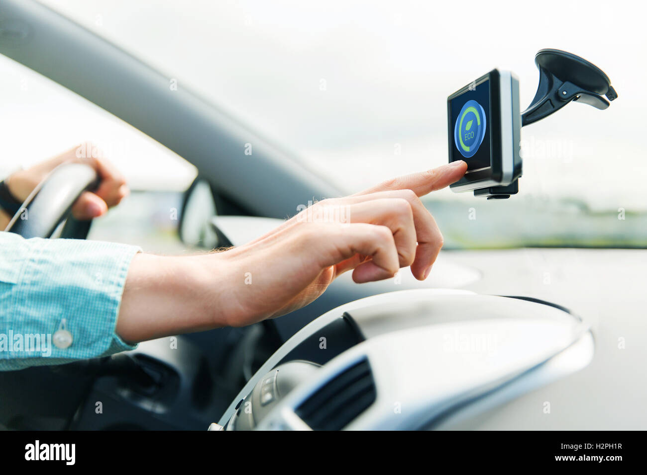
[[[349,190],[446,162],[446,97],[454,90],[494,67],[509,69],[520,78],[525,109],[538,81],[536,51],[574,52],[607,72],[619,99],[607,111],[572,104],[524,128],[521,191],[576,196],[595,207],[647,207],[639,126],[647,106],[647,35],[635,2],[43,3],[177,78],[180,87],[203,94]],[[52,98],[48,88],[55,86],[39,85],[8,60],[0,61],[0,74],[0,120],[11,131],[1,145],[5,156],[35,160],[82,137],[100,138],[128,143],[129,156],[117,161],[137,183],[182,187],[191,180],[192,167],[107,114],[80,117],[84,101],[72,106],[67,96]],[[53,120],[61,108],[68,121]],[[164,167],[146,178],[151,163]]]

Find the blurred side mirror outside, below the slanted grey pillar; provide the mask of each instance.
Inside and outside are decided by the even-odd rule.
[[[215,193],[209,182],[197,176],[182,200],[179,235],[184,244],[198,248],[214,249],[225,244],[219,242],[218,235],[210,221],[217,216]]]

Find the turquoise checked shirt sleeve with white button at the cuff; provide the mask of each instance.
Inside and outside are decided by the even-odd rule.
[[[32,238],[22,244],[26,259],[21,260],[10,295],[5,295],[10,297],[10,312],[0,319],[0,333],[6,328],[14,335],[39,334],[51,343],[45,352],[10,353],[10,360],[0,352],[0,370],[69,363],[137,348],[122,341],[115,328],[128,269],[141,248],[74,239]],[[0,300],[4,304],[7,299]],[[67,347],[57,345],[61,330],[71,336]]]

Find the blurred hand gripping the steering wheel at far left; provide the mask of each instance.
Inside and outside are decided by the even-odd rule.
[[[28,169],[17,171],[8,176],[5,183],[10,193],[17,200],[24,202],[27,196],[47,175],[58,165],[68,163],[86,164],[93,167],[99,175],[100,183],[94,193],[85,191],[74,202],[72,215],[78,220],[89,220],[98,218],[105,214],[108,208],[116,206],[128,194],[124,176],[105,158],[94,158],[96,148],[90,146],[87,155],[78,153],[80,147],[74,147],[61,153],[50,160],[36,164]],[[101,155],[101,154],[99,154]],[[4,229],[4,228],[3,228]]]

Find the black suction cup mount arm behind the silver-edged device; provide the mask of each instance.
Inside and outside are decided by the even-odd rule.
[[[522,127],[542,120],[571,101],[606,109],[609,101],[618,97],[608,76],[575,54],[543,49],[534,62],[539,69],[539,85],[531,105],[521,112]]]

